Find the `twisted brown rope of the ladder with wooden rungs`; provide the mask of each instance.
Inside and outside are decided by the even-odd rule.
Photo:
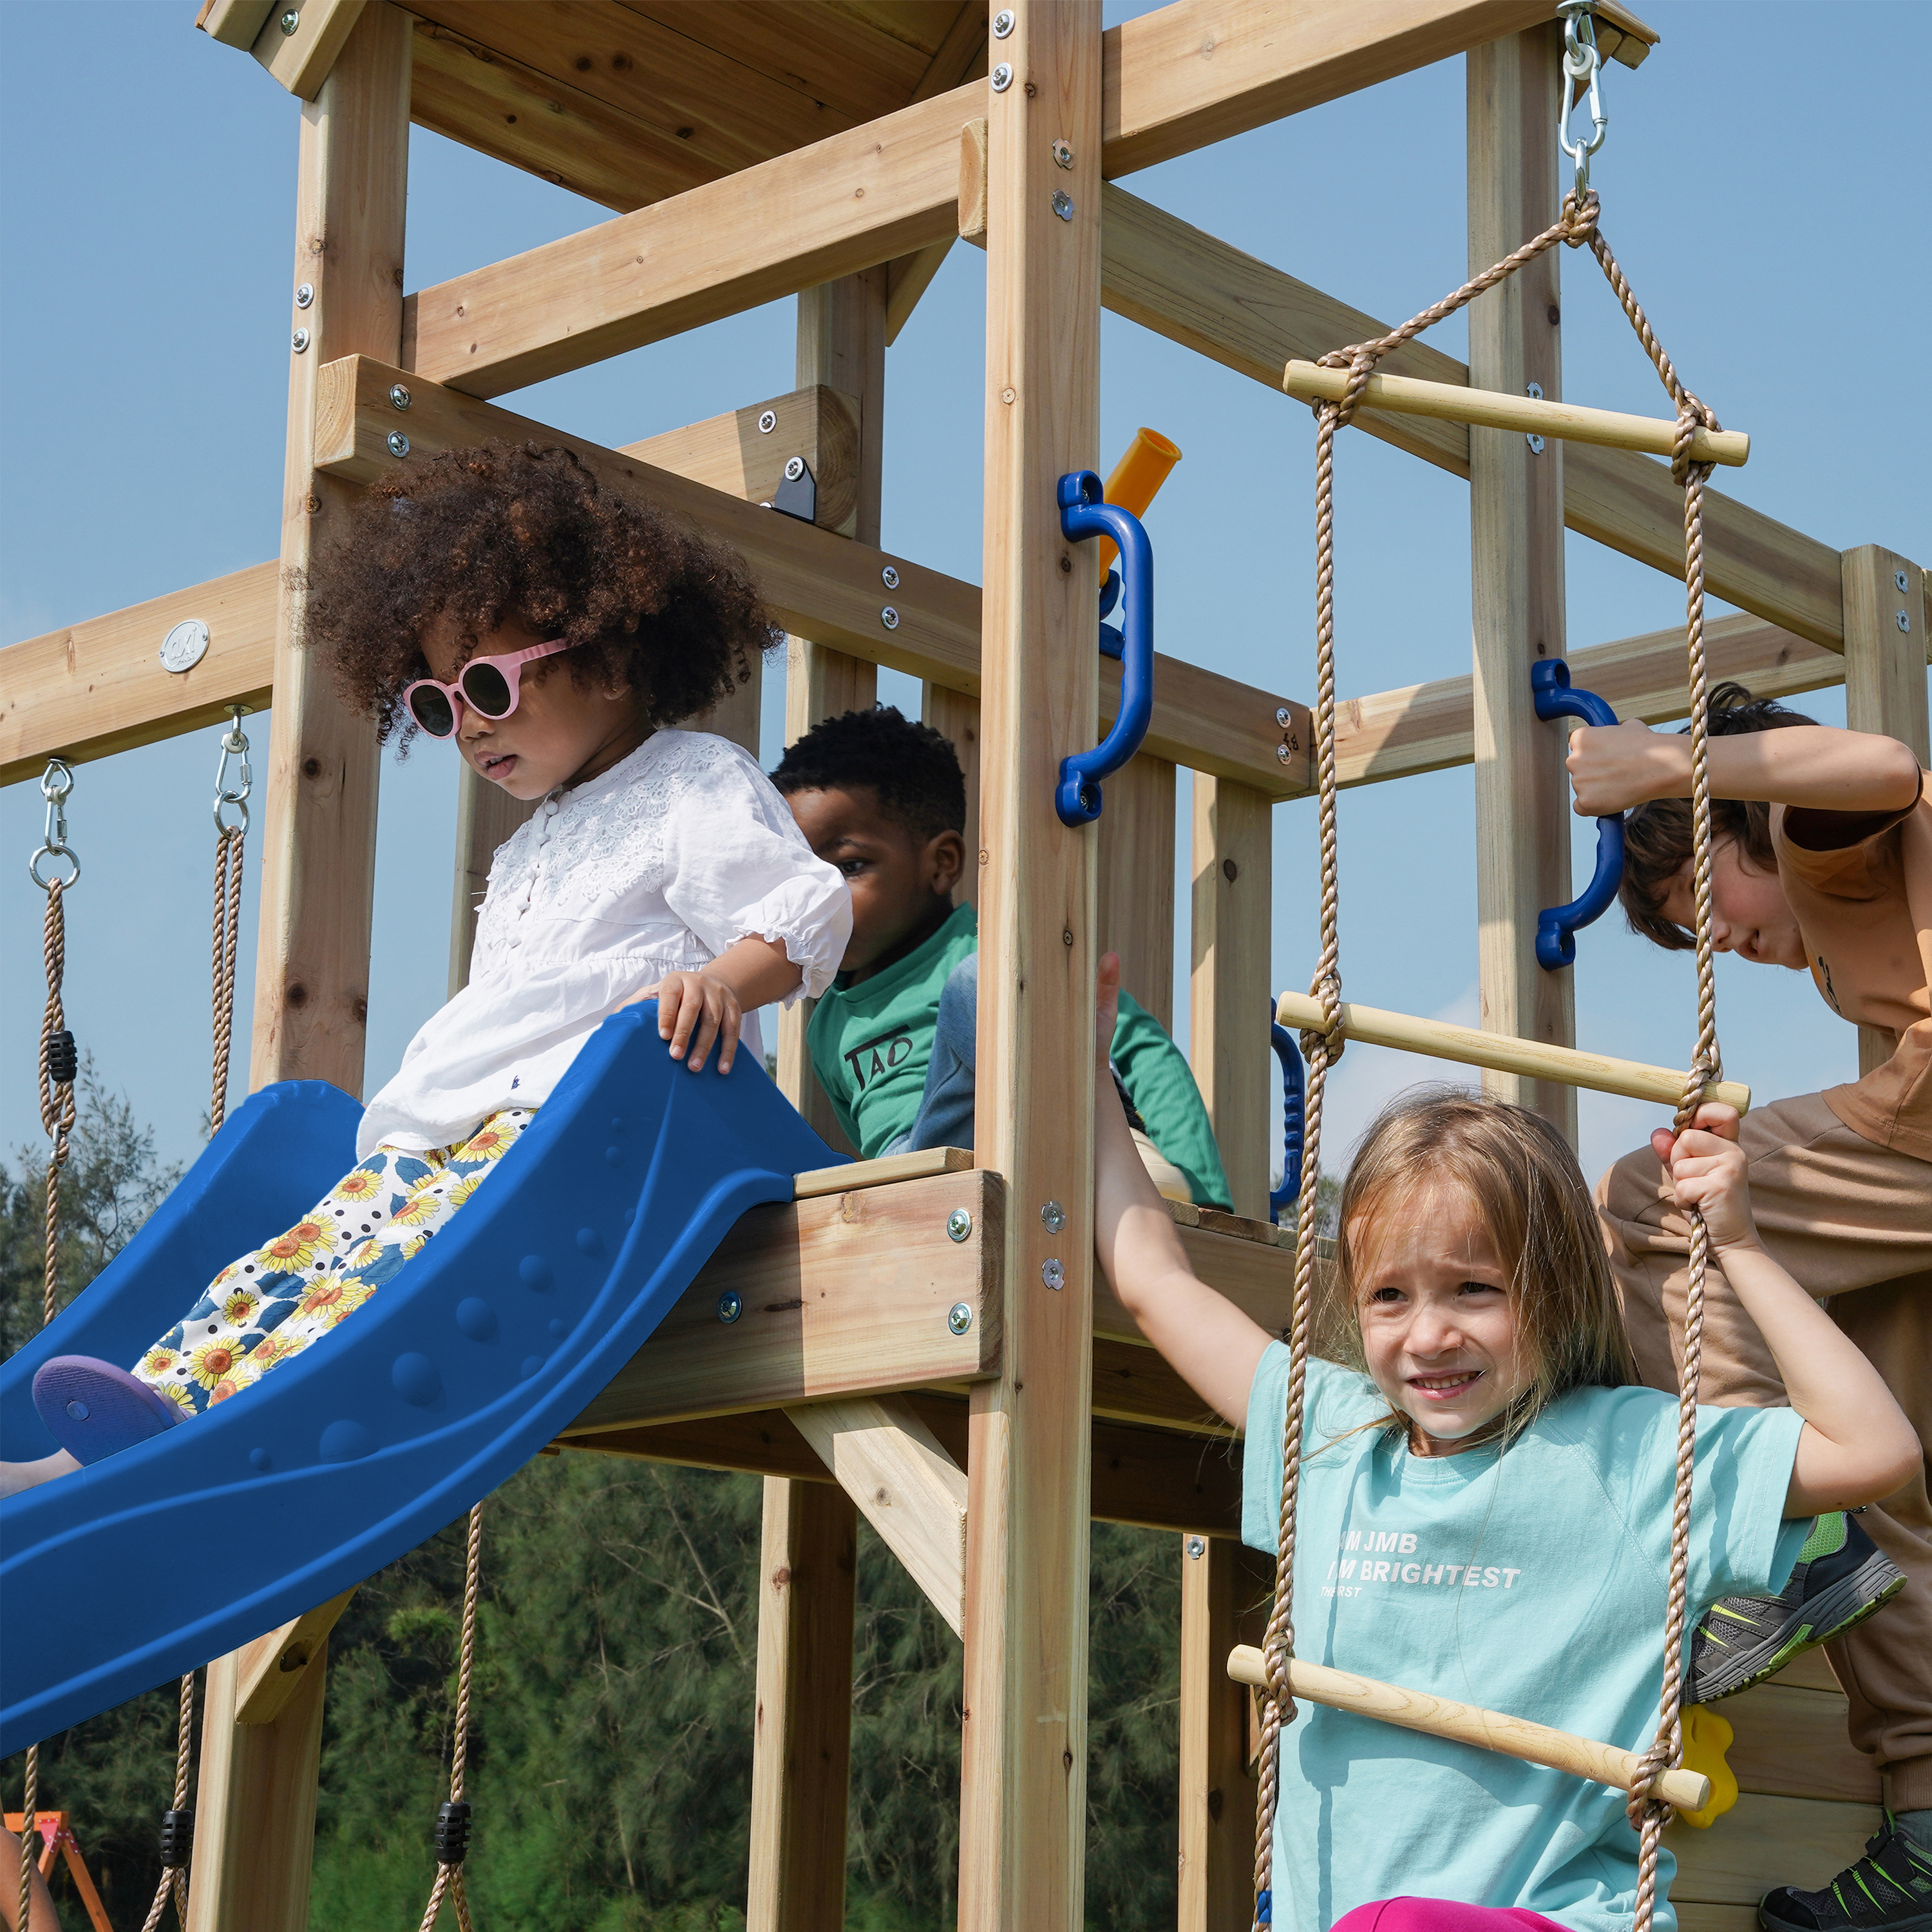
[[[1586,176],[1584,176],[1586,180]],[[1708,1082],[1721,1076],[1718,1051],[1718,989],[1712,949],[1710,898],[1710,763],[1708,690],[1704,668],[1704,481],[1710,464],[1690,462],[1690,439],[1698,429],[1718,429],[1718,417],[1677,377],[1669,355],[1650,328],[1650,321],[1631,292],[1609,243],[1598,230],[1600,203],[1584,182],[1565,195],[1561,216],[1515,253],[1472,276],[1455,294],[1403,323],[1374,342],[1350,344],[1320,359],[1323,369],[1347,369],[1349,386],[1339,402],[1316,404],[1316,786],[1321,833],[1321,954],[1308,987],[1320,1001],[1323,1026],[1302,1034],[1308,1063],[1306,1124],[1302,1134],[1302,1188],[1294,1208],[1294,1300],[1289,1316],[1289,1395],[1281,1426],[1281,1520],[1277,1530],[1275,1600],[1262,1640],[1267,1690],[1262,1696],[1262,1752],[1256,1791],[1254,1832],[1254,1926],[1273,1922],[1275,1806],[1279,1803],[1281,1731],[1294,1721],[1289,1690],[1289,1662],[1294,1656],[1294,1534],[1300,1501],[1300,1457],[1308,1387],[1308,1331],[1314,1308],[1314,1227],[1321,1184],[1321,1101],[1327,1070],[1341,1059],[1341,943],[1339,943],[1339,866],[1335,856],[1335,433],[1349,425],[1368,388],[1376,365],[1432,325],[1455,315],[1519,269],[1536,261],[1559,242],[1588,245],[1636,330],[1671,402],[1677,408],[1677,448],[1671,479],[1685,493],[1685,591],[1687,653],[1690,676],[1690,823],[1692,883],[1696,898],[1696,976],[1698,1041],[1683,1099],[1677,1132],[1690,1124]],[[1677,1480],[1671,1499],[1671,1565],[1663,1623],[1663,1689],[1660,1721],[1642,1770],[1631,1785],[1629,1816],[1638,1833],[1636,1922],[1633,1932],[1650,1932],[1658,1889],[1658,1847],[1669,1804],[1652,1797],[1658,1777],[1675,1768],[1683,1748],[1683,1634],[1689,1594],[1690,1476],[1696,1453],[1696,1393],[1704,1339],[1704,1273],[1710,1238],[1704,1217],[1690,1209],[1690,1262],[1685,1304],[1683,1364],[1677,1406]]]

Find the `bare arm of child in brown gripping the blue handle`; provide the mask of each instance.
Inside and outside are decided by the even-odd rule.
[[[1584,817],[1689,798],[1690,740],[1638,723],[1582,724],[1571,732],[1569,773]],[[1897,738],[1789,724],[1712,738],[1710,788],[1816,811],[1903,811],[1918,796],[1918,759]]]

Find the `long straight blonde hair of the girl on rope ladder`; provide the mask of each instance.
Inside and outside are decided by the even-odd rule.
[[[1362,1281],[1376,1225],[1405,1194],[1459,1186],[1509,1273],[1509,1300],[1530,1383],[1484,1432],[1511,1437],[1571,1389],[1638,1379],[1623,1331],[1617,1277],[1569,1142],[1544,1119],[1463,1088],[1401,1094],[1362,1136],[1341,1188],[1333,1298],[1323,1339],[1366,1370]],[[1391,1426],[1408,1418],[1391,1412]]]

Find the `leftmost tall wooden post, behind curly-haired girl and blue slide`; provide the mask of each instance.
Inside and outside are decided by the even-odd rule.
[[[301,110],[290,327],[282,587],[263,825],[261,952],[249,1084],[332,1080],[361,1094],[375,887],[377,742],[299,643],[290,570],[327,541],[352,485],[311,468],[315,373],[402,350],[402,214],[410,160],[410,17],[375,0]],[[303,305],[296,294],[307,286]],[[325,1650],[274,1723],[236,1725],[242,1652],[207,1673],[193,1932],[303,1932],[315,1857]]]

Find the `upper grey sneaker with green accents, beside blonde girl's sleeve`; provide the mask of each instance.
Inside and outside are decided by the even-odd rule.
[[[1905,1573],[1843,1509],[1818,1519],[1777,1596],[1727,1596],[1690,1634],[1687,1704],[1737,1696],[1841,1636],[1905,1588]]]

